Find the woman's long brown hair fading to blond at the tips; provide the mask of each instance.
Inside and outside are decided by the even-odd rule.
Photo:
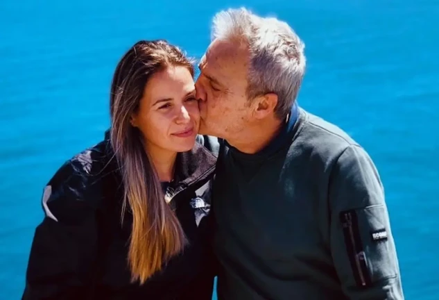
[[[144,283],[186,242],[180,222],[164,201],[143,135],[130,123],[150,76],[173,66],[187,67],[193,76],[191,60],[178,47],[164,40],[140,41],[121,58],[112,81],[110,140],[123,177],[122,220],[127,208],[132,213],[128,265],[133,282]]]

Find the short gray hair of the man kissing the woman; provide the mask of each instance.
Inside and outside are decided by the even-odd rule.
[[[259,17],[246,8],[218,12],[213,20],[212,40],[243,42],[250,52],[247,96],[273,92],[275,113],[285,117],[295,102],[306,59],[304,43],[286,22]]]

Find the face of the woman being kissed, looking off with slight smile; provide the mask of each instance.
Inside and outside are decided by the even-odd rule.
[[[132,117],[148,151],[189,151],[199,124],[195,85],[186,67],[167,67],[150,77]]]

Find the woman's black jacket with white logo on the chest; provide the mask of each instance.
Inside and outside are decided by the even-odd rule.
[[[189,245],[139,285],[130,283],[132,217],[127,210],[121,224],[123,186],[108,138],[68,160],[44,189],[45,217],[33,238],[22,299],[212,299],[207,216],[215,163],[198,142],[178,155],[178,180],[168,196]]]

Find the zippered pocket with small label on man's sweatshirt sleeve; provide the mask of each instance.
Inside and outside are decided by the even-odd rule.
[[[395,247],[386,206],[368,206],[340,213],[343,238],[356,285],[368,287],[396,276]]]

